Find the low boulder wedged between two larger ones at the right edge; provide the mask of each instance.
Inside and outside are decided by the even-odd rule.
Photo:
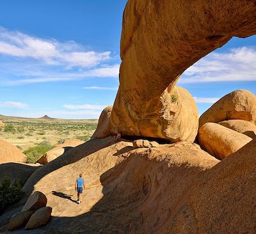
[[[218,122],[218,124],[243,133],[250,138],[256,138],[256,125],[253,124],[253,122],[243,121],[241,119],[230,119],[229,121]]]

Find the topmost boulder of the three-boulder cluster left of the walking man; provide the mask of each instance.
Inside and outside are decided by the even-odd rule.
[[[38,208],[45,207],[47,204],[47,198],[44,193],[35,191],[35,193],[29,196],[28,201],[22,208],[22,212],[26,210],[38,210]]]

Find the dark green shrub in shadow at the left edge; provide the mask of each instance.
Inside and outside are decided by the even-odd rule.
[[[4,177],[0,187],[0,214],[8,205],[19,201],[23,195],[19,180],[16,179],[12,184],[10,178]]]

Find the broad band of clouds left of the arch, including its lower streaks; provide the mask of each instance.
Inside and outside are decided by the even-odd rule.
[[[0,26],[0,85],[116,78],[119,67],[109,51],[95,52],[74,41],[38,38]]]

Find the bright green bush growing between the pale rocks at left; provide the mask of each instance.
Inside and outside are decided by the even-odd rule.
[[[39,145],[41,144],[41,145]],[[41,156],[43,156],[47,151],[51,150],[54,146],[41,142],[38,143],[37,146],[30,147],[29,149],[25,150],[23,153],[27,156],[27,163],[36,163]]]

